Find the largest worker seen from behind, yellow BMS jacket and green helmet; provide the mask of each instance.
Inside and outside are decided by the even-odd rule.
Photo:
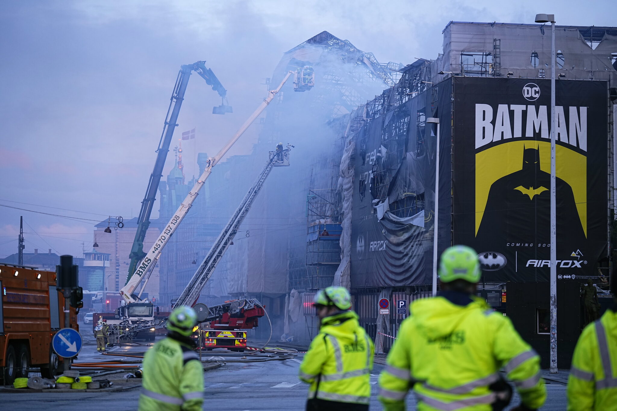
[[[404,410],[409,389],[422,411],[502,410],[512,388],[500,368],[521,396],[515,410],[544,404],[540,359],[507,317],[473,296],[480,274],[478,257],[469,247],[453,246],[441,255],[442,291],[411,305],[379,377],[385,410]]]

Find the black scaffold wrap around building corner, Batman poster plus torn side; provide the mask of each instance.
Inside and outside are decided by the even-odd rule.
[[[550,81],[454,76],[365,108],[355,149],[352,287],[431,283],[436,125],[438,253],[479,253],[484,282],[542,282],[550,264]],[[607,82],[557,81],[557,274],[607,255]],[[381,99],[381,108],[374,110]],[[372,104],[372,105],[371,105]]]

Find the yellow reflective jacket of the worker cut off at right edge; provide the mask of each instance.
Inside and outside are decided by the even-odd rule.
[[[568,411],[617,410],[617,311],[587,325],[568,379]]]

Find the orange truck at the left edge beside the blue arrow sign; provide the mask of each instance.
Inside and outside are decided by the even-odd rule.
[[[51,347],[60,328],[79,331],[70,308],[64,324],[64,296],[56,290],[56,273],[0,264],[0,378],[5,385],[40,368],[47,378],[62,370],[62,358]]]

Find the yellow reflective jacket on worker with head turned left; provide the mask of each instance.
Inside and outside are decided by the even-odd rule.
[[[355,312],[321,320],[299,371],[300,380],[310,383],[309,399],[368,404],[374,351]]]

